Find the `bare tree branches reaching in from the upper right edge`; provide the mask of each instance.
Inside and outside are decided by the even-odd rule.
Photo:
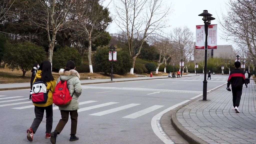
[[[231,40],[240,48],[248,49],[256,58],[256,2],[254,0],[228,0],[228,14],[222,13],[219,23],[224,35],[223,39]]]

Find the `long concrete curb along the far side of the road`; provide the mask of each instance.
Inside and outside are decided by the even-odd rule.
[[[186,77],[193,77],[193,76],[186,76]],[[171,77],[148,78],[148,79],[133,79],[133,80],[104,81],[104,82],[95,82],[95,83],[82,83],[81,85],[105,84],[105,83],[116,83],[116,82],[124,82],[124,81],[138,81],[138,80],[165,79],[165,78],[171,78]],[[4,91],[4,90],[17,90],[17,89],[30,89],[30,87],[0,88],[0,91]]]

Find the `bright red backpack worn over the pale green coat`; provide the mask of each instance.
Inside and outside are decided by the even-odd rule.
[[[60,80],[52,93],[52,101],[58,107],[65,107],[70,104],[73,95],[74,93],[72,96],[69,94],[67,81]]]

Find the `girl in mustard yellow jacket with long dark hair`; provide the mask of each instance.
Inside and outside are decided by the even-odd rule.
[[[27,130],[27,139],[29,141],[33,141],[33,134],[36,133],[37,128],[39,127],[43,117],[44,117],[44,111],[46,112],[46,136],[45,138],[50,138],[50,133],[52,129],[52,93],[55,90],[56,81],[51,73],[51,63],[49,61],[43,61],[36,73],[36,77],[33,81],[35,82],[36,79],[41,79],[43,82],[47,84],[47,91],[48,92],[48,98],[46,103],[44,104],[34,104],[35,105],[35,116],[31,127]],[[33,100],[33,97],[32,97]]]

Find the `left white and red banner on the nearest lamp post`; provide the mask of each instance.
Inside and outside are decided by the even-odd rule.
[[[195,49],[205,48],[205,25],[196,26],[196,46]]]

